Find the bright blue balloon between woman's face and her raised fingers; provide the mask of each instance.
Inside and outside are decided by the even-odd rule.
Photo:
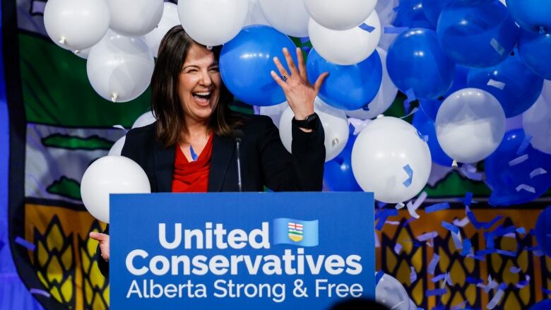
[[[224,44],[220,54],[220,75],[227,89],[249,105],[268,106],[285,102],[280,86],[270,72],[279,73],[273,64],[277,56],[290,72],[282,49],[287,47],[297,64],[295,44],[283,33],[264,25],[243,28],[237,37]]]

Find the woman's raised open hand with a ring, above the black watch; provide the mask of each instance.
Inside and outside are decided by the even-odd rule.
[[[271,71],[271,75],[275,82],[278,83],[278,85],[280,85],[283,89],[285,98],[287,99],[292,112],[295,113],[295,119],[300,121],[306,119],[307,116],[314,113],[314,99],[316,99],[316,96],[319,93],[319,88],[321,88],[321,84],[324,83],[325,78],[329,75],[329,73],[321,73],[321,75],[317,78],[316,83],[312,85],[308,81],[306,64],[304,64],[304,58],[302,57],[302,49],[297,47],[298,69],[295,66],[295,61],[292,60],[288,49],[284,48],[283,54],[285,55],[285,60],[287,61],[287,65],[291,72],[287,72],[278,57],[273,57],[273,62],[275,63],[275,66],[278,67],[278,71],[283,78],[281,78],[278,73],[275,73],[275,71]]]

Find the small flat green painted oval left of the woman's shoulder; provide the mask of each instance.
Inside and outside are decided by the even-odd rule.
[[[100,136],[82,138],[54,133],[46,138],[42,138],[42,144],[50,148],[65,148],[69,150],[109,150],[114,142]]]

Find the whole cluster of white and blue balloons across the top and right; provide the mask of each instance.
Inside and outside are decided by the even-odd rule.
[[[54,42],[88,55],[90,83],[114,102],[132,100],[147,88],[158,43],[173,25],[181,23],[206,46],[223,44],[220,74],[227,88],[274,119],[289,151],[292,112],[269,73],[277,72],[274,56],[284,59],[283,47],[295,48],[288,36],[309,40],[309,80],[330,73],[315,107],[326,132],[327,167],[335,168],[326,174],[326,184],[374,191],[380,201],[401,203],[425,186],[432,162],[449,166],[509,158],[490,155],[509,141],[506,118],[521,114],[523,132],[531,138],[526,152],[543,155],[531,155],[531,165],[514,169],[499,163],[494,171],[525,173],[533,162],[543,167],[540,160],[551,154],[545,134],[551,129],[551,86],[544,83],[551,77],[544,61],[551,53],[551,4],[533,1],[180,0],[176,6],[97,0],[91,8],[83,0],[50,0],[45,24]],[[83,15],[86,10],[91,13]],[[138,11],[147,13],[136,18]],[[88,32],[73,32],[81,25]],[[391,117],[375,119],[398,90],[408,100],[420,100],[413,126]],[[359,135],[350,134],[349,117],[374,121]],[[116,143],[113,154],[122,144]],[[503,152],[511,148],[504,146]],[[333,178],[350,182],[339,187]],[[506,178],[502,173],[489,182],[496,193],[511,194],[496,203],[529,199],[526,191],[516,191],[520,180],[537,193],[545,187],[522,178],[506,183]]]

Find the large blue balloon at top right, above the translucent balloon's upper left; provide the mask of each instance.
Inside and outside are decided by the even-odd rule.
[[[457,64],[495,66],[514,49],[519,28],[498,0],[482,4],[453,1],[438,20],[438,40]]]

